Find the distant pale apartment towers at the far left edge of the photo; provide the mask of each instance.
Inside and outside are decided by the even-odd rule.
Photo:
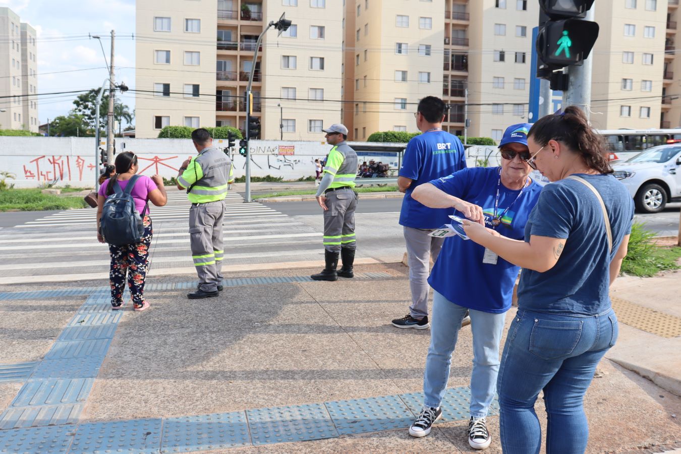
[[[0,127],[38,131],[35,29],[0,7]],[[34,95],[34,96],[31,96]]]

